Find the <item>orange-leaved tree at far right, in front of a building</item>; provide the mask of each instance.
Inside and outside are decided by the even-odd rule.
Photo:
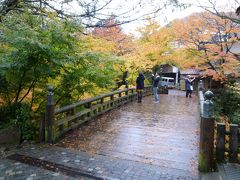
[[[237,40],[233,35],[239,31],[239,25],[204,12],[177,20],[172,28],[176,39],[184,44],[189,53],[197,55],[196,58],[201,61],[198,63],[205,64],[203,70],[207,76],[226,81],[227,74],[237,74],[235,67],[238,62],[231,53],[231,47]]]

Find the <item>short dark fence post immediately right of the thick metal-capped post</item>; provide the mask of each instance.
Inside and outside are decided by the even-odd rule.
[[[225,124],[217,123],[217,144],[216,144],[216,160],[217,160],[217,162],[224,161],[225,132],[226,132]]]

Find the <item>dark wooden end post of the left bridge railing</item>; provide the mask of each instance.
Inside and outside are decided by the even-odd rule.
[[[48,88],[47,105],[46,105],[46,125],[47,125],[47,142],[53,142],[53,121],[54,121],[54,100],[53,87]]]

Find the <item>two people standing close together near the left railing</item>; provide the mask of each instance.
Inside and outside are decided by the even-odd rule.
[[[137,90],[137,97],[138,97],[138,102],[142,102],[142,93],[144,89],[144,80],[145,77],[142,72],[139,73],[137,80],[136,80],[136,90]],[[155,75],[152,74],[152,80],[153,80],[153,94],[154,94],[154,102],[158,103],[159,102],[159,96],[158,96],[158,83],[160,81],[160,76],[158,73]]]

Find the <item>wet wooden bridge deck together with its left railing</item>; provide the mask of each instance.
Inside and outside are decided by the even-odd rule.
[[[54,109],[50,89],[41,139],[198,178],[198,98],[169,90],[154,103],[151,95],[152,87],[146,87],[143,102],[137,103],[130,88]]]

